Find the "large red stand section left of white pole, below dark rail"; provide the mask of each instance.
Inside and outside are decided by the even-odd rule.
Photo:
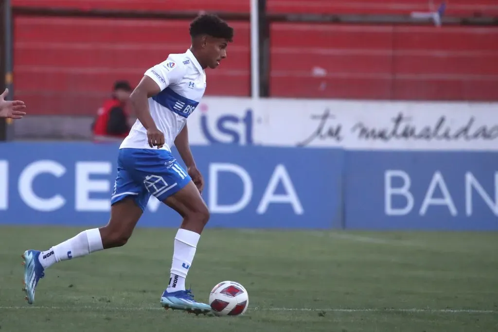
[[[249,96],[249,22],[236,29],[228,57],[207,69],[206,95]],[[113,82],[137,84],[151,65],[190,47],[188,21],[17,17],[16,98],[32,113],[95,113]],[[81,103],[84,99],[85,102]]]

